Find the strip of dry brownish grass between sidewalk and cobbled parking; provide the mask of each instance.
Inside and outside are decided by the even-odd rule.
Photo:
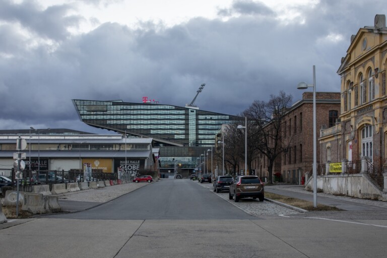
[[[317,207],[313,207],[312,202],[296,199],[296,198],[291,198],[291,197],[286,197],[286,196],[281,196],[277,195],[276,193],[271,193],[271,192],[265,192],[265,198],[272,199],[274,201],[284,203],[287,205],[291,205],[297,208],[301,208],[307,211],[340,211],[340,209],[333,207],[333,206],[327,206],[327,205],[322,205],[322,204],[317,204]]]

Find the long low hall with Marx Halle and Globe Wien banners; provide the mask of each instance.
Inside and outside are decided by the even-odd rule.
[[[103,173],[116,173],[118,168],[136,173],[159,169],[158,149],[152,148],[152,139],[66,129],[0,130],[0,174],[10,174],[19,136],[27,143],[21,151],[26,154],[25,168],[34,171],[83,170],[84,163]]]

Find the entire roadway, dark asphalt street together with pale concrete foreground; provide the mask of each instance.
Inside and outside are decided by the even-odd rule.
[[[88,211],[25,220],[4,228],[0,230],[0,255],[385,257],[387,216],[337,219],[315,215],[250,216],[196,182],[171,179]]]

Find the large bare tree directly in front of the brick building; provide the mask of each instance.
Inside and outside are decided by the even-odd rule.
[[[288,149],[283,141],[284,118],[291,106],[293,97],[280,91],[278,96],[271,95],[268,102],[255,100],[244,111],[250,119],[249,127],[254,130],[253,149],[255,155],[262,153],[268,159],[269,182],[273,183],[272,174],[276,159]]]

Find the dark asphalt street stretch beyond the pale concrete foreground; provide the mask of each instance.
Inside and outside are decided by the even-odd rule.
[[[162,180],[91,210],[48,217],[115,220],[257,219],[187,179]]]

